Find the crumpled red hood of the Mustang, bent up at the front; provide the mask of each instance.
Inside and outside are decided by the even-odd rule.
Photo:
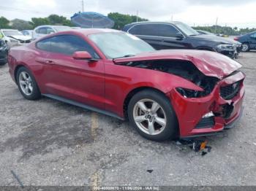
[[[129,61],[154,61],[154,60],[184,60],[191,61],[197,69],[209,77],[222,79],[241,68],[241,64],[217,52],[206,50],[159,50],[144,52],[129,58],[114,59],[115,63]]]

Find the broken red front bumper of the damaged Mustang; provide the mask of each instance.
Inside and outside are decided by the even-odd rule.
[[[176,90],[170,92],[170,101],[176,112],[181,138],[193,136],[206,136],[222,132],[230,128],[241,116],[244,100],[244,74],[238,72],[230,77],[222,79],[214,87],[210,95],[203,98],[184,98]],[[233,85],[241,81],[238,93],[230,100],[225,100],[220,95],[220,87]],[[205,127],[198,124],[205,114],[214,113],[213,123]]]

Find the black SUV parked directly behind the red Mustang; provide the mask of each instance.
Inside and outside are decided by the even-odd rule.
[[[241,43],[219,36],[199,34],[181,22],[139,22],[124,26],[123,31],[134,34],[157,50],[211,50],[236,58]]]

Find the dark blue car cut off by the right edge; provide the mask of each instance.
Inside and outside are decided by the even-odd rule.
[[[247,52],[249,50],[256,50],[256,31],[242,36],[236,36],[236,41],[241,42],[241,51]]]

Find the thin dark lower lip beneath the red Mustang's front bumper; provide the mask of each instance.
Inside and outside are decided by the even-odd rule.
[[[197,137],[202,137],[202,136],[217,136],[219,134],[225,133],[225,131],[230,129],[230,128],[236,128],[236,125],[241,120],[241,117],[243,116],[243,114],[244,114],[244,106],[241,107],[240,114],[238,115],[236,120],[234,120],[233,122],[231,122],[228,125],[225,125],[225,127],[222,131],[218,131],[218,132],[214,132],[214,133],[201,133],[201,134],[198,134],[198,135],[184,136],[184,137],[180,137],[180,138],[181,139],[192,139],[192,138],[197,138]]]

